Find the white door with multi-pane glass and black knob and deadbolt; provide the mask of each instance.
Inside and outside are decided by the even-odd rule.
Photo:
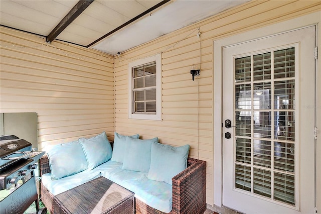
[[[314,212],[315,29],[223,48],[223,205]]]

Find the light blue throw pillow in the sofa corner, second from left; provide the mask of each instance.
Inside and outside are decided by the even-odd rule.
[[[111,158],[112,149],[105,132],[88,139],[80,138],[78,141],[85,152],[89,170]]]

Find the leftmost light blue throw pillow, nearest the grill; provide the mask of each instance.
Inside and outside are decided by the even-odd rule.
[[[46,150],[52,180],[73,175],[88,168],[85,153],[78,141],[58,144]]]

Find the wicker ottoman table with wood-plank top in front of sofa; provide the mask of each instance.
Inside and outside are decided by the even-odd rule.
[[[134,193],[99,177],[54,196],[55,213],[134,213]]]

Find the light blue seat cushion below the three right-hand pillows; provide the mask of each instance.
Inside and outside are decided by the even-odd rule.
[[[129,189],[135,197],[163,212],[172,210],[172,185],[148,179],[148,172],[122,169],[122,163],[107,161],[92,171],[100,171],[105,178]]]

